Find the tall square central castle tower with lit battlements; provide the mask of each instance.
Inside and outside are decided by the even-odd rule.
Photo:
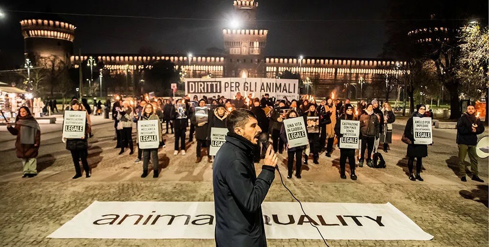
[[[267,29],[256,25],[258,2],[234,1],[236,26],[222,30],[226,62],[225,77],[265,77]]]

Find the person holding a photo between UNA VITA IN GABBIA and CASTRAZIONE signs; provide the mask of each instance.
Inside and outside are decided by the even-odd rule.
[[[307,123],[307,136],[312,153],[312,162],[317,165],[319,164],[318,158],[321,147],[319,146],[319,113],[316,111],[316,104],[309,104],[309,110],[304,113],[304,121]],[[307,159],[308,157],[306,156],[306,162]]]

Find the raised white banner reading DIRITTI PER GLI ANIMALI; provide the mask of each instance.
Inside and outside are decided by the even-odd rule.
[[[185,94],[202,96],[224,96],[233,99],[240,92],[244,97],[255,94],[260,98],[265,93],[270,97],[289,100],[298,99],[299,81],[275,78],[188,78],[185,79]]]

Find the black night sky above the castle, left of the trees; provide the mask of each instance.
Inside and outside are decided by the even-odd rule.
[[[258,27],[267,28],[266,55],[376,58],[386,41],[387,0],[259,0]],[[103,0],[3,1],[0,55],[22,63],[19,21],[39,14],[8,10],[177,17],[212,20],[151,20],[62,15],[74,24],[74,52],[206,54],[223,48],[222,28],[233,13],[232,0]],[[302,21],[297,21],[302,20]],[[313,21],[321,20],[321,21]],[[3,54],[1,54],[3,53]]]

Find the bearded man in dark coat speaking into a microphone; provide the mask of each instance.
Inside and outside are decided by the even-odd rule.
[[[269,145],[257,177],[253,145],[262,130],[256,116],[250,110],[233,110],[226,127],[226,142],[216,154],[212,171],[216,246],[267,246],[261,205],[275,178],[277,155]]]

